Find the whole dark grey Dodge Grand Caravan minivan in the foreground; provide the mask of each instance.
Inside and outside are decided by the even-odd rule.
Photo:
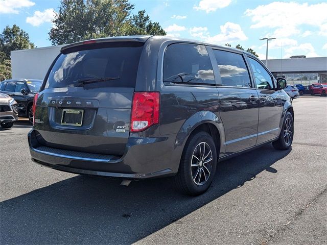
[[[267,143],[286,150],[294,112],[255,56],[161,36],[61,48],[34,98],[32,160],[126,180],[175,176],[201,194],[218,161]]]

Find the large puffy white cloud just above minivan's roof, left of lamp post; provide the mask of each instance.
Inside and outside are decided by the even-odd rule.
[[[223,26],[220,26],[219,34],[213,37],[208,36],[205,39],[208,42],[225,44],[226,42],[245,41],[248,38],[239,24],[226,22]]]

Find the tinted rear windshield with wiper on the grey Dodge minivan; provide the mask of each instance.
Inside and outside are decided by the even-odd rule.
[[[64,50],[44,88],[135,87],[142,49],[140,42],[112,42]]]

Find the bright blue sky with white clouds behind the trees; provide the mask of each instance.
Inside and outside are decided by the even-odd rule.
[[[327,56],[326,1],[202,0],[130,1],[133,13],[145,9],[168,35],[232,46],[252,47],[268,57]],[[17,24],[37,47],[50,46],[48,32],[60,0],[0,0],[0,29]]]

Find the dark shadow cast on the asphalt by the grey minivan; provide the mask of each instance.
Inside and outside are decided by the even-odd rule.
[[[142,239],[221,197],[291,151],[271,144],[218,164],[212,186],[199,197],[174,188],[172,178],[134,181],[76,176],[1,203],[3,244],[126,244]]]

